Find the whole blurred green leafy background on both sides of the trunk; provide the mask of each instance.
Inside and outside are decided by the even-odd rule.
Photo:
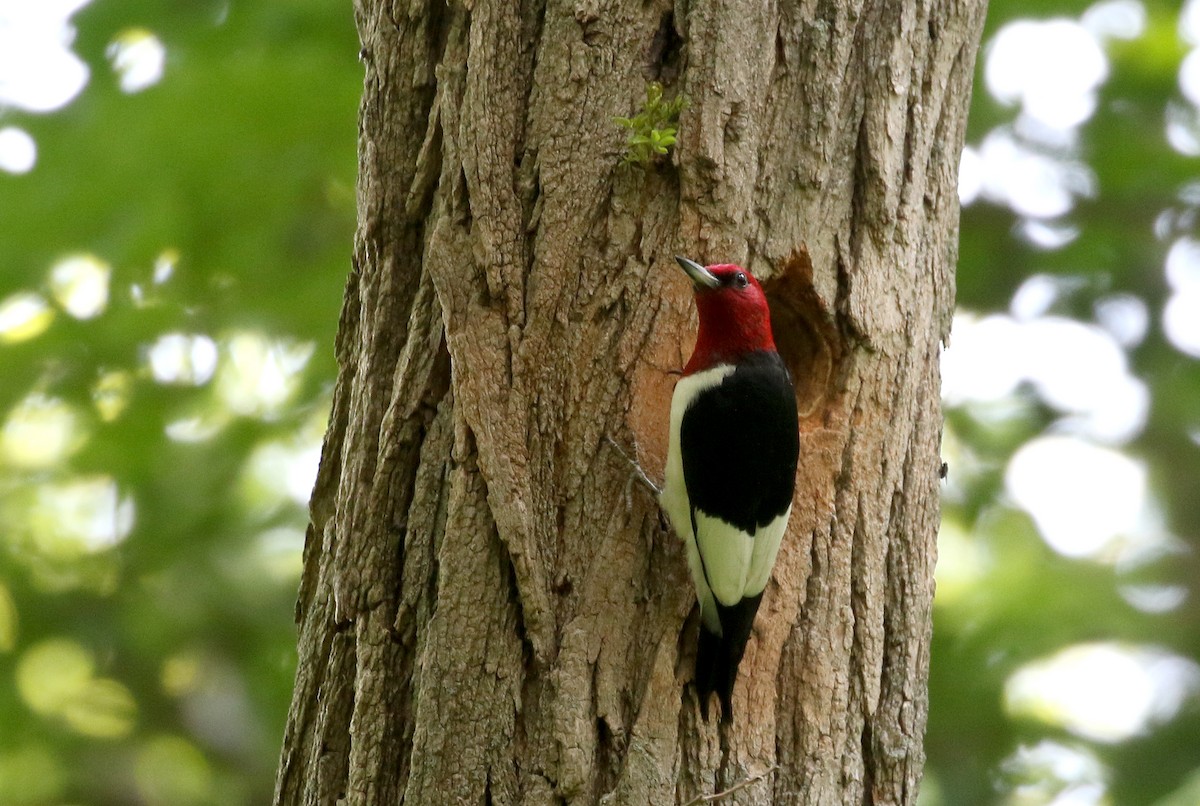
[[[47,5],[77,8],[86,80],[38,108],[0,0],[0,804],[268,802],[355,216],[352,12]],[[926,805],[1200,802],[1198,47],[1196,0],[991,4]]]

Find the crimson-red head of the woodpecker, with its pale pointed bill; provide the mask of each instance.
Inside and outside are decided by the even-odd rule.
[[[767,295],[754,275],[731,263],[706,267],[686,258],[676,260],[691,278],[700,311],[696,349],[683,369],[685,375],[775,349]]]

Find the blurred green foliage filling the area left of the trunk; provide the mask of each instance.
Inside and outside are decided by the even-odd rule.
[[[0,343],[0,804],[264,804],[355,218],[354,20],[95,0],[72,23],[83,91],[0,108],[37,144],[0,173],[0,303],[48,319]],[[109,47],[136,29],[164,71],[124,92]],[[107,271],[85,318],[52,281],[72,255]]]

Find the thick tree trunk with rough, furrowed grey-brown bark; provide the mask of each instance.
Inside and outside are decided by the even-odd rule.
[[[276,802],[914,802],[984,0],[356,6]],[[622,166],[650,80],[689,98],[678,144]],[[661,477],[676,253],[763,279],[802,410],[728,728],[698,716],[683,547],[614,447]]]

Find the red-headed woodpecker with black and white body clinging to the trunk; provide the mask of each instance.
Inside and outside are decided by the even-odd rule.
[[[700,312],[696,348],[671,399],[661,503],[688,548],[700,600],[696,693],[733,718],[733,681],[792,513],[799,426],[758,281],[677,257]]]

